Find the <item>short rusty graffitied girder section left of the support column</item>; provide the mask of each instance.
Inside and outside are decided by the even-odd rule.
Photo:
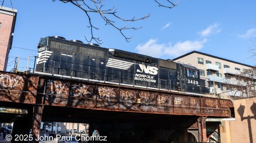
[[[0,101],[35,104],[38,76],[0,71]]]

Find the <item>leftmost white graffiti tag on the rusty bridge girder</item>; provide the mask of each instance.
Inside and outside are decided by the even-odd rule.
[[[4,88],[10,88],[10,89],[18,88],[18,90],[22,90],[24,79],[22,76],[18,76],[18,75],[16,77],[12,77],[8,74],[1,74],[0,84]]]

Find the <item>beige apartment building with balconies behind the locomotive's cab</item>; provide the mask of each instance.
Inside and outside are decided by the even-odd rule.
[[[246,91],[248,83],[242,82],[243,79],[238,76],[253,66],[199,51],[191,51],[173,61],[197,67],[200,70],[200,78],[205,79],[208,83],[210,94],[223,97],[241,96],[248,92]],[[255,79],[252,78],[250,84],[254,84]],[[255,91],[255,85],[250,89]]]

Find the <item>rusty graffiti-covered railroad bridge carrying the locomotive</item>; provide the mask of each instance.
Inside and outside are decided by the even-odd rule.
[[[89,123],[89,135],[97,129],[108,142],[206,142],[206,118],[228,118],[233,105],[206,96],[0,71],[0,107],[0,122],[14,122],[13,135],[32,129],[36,137],[41,121],[55,121]]]

